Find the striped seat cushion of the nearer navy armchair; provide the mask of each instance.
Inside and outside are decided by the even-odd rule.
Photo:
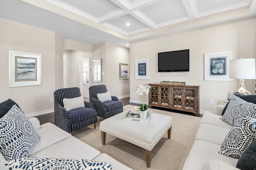
[[[71,123],[85,120],[90,117],[94,117],[95,115],[97,116],[97,112],[95,109],[90,109],[90,108],[86,108],[86,107],[68,111],[68,116],[69,116]]]

